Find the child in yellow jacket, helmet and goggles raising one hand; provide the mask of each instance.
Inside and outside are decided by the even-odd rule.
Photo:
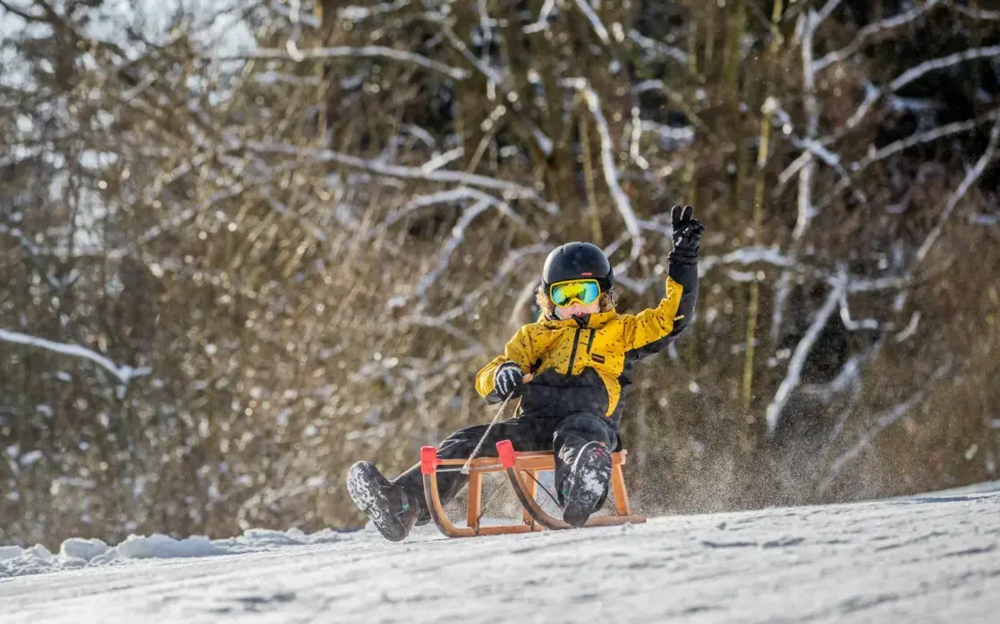
[[[476,376],[476,390],[489,403],[520,395],[517,417],[453,433],[438,446],[438,457],[468,457],[487,431],[482,456],[495,456],[500,440],[510,440],[518,451],[551,450],[563,519],[582,526],[607,495],[611,452],[620,446],[622,394],[635,363],[666,348],[694,311],[704,226],[692,212],[691,206],[674,206],[666,294],[656,308],[634,316],[615,311],[614,275],[600,248],[567,243],[549,254],[537,293],[542,318],[518,330],[504,354]],[[465,482],[458,472],[439,474],[442,502]],[[347,489],[389,540],[399,541],[414,524],[430,520],[419,464],[389,481],[374,465],[358,462]]]

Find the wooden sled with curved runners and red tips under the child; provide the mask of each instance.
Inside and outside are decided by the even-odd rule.
[[[425,446],[420,451],[420,470],[424,476],[424,496],[431,518],[448,537],[473,537],[477,535],[506,535],[509,533],[531,533],[532,531],[562,530],[575,528],[546,512],[536,501],[538,473],[555,470],[555,457],[551,451],[517,452],[510,440],[497,442],[499,457],[481,457],[469,462],[469,503],[466,507],[466,526],[455,526],[444,512],[438,493],[437,474],[439,472],[459,472],[465,459],[438,459],[437,449]],[[611,491],[615,500],[616,515],[591,518],[584,525],[614,526],[619,524],[641,524],[645,516],[633,515],[629,507],[628,492],[625,491],[625,476],[622,466],[628,451],[611,454]],[[514,493],[524,508],[522,521],[518,524],[481,526],[483,501],[483,474],[504,472]]]

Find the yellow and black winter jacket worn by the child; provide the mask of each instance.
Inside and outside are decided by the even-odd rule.
[[[662,351],[685,327],[698,293],[697,266],[671,267],[688,288],[667,278],[666,294],[655,308],[639,314],[617,311],[590,315],[585,321],[539,320],[517,331],[499,355],[476,375],[476,390],[498,402],[493,374],[514,362],[534,375],[521,394],[519,417],[596,413],[621,421],[622,391],[632,383],[635,363]]]

